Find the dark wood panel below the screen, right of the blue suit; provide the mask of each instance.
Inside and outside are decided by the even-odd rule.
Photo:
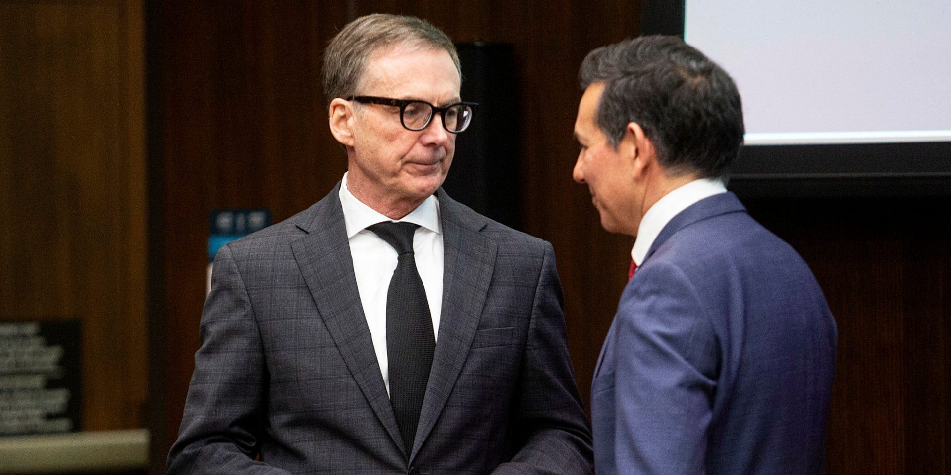
[[[951,200],[755,199],[839,325],[830,474],[948,473]]]

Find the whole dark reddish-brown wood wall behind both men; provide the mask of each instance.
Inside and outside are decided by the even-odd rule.
[[[636,35],[639,2],[464,3],[425,0],[242,2],[166,0],[149,28],[159,65],[150,102],[161,112],[150,157],[163,177],[158,263],[165,276],[165,449],[174,439],[199,346],[207,213],[268,207],[277,220],[320,199],[345,158],[327,130],[320,55],[350,19],[413,14],[458,42],[514,45],[522,121],[523,230],[552,241],[565,289],[582,398],[626,281],[632,240],[605,233],[584,186],[571,180],[577,67],[593,47]],[[150,35],[151,37],[151,35]],[[452,172],[450,172],[452,173]],[[750,201],[756,218],[799,249],[840,326],[829,425],[829,473],[947,473],[951,230],[905,206],[927,200]],[[948,203],[942,202],[945,206]],[[917,217],[917,218],[913,218]],[[153,396],[155,396],[153,394]],[[154,436],[155,434],[153,434]],[[161,450],[159,450],[161,452]]]

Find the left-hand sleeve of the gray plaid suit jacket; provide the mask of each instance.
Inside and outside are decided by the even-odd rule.
[[[195,353],[195,372],[179,439],[168,455],[168,473],[289,475],[254,461],[262,434],[267,369],[254,311],[227,245],[215,257],[201,332],[202,347]]]

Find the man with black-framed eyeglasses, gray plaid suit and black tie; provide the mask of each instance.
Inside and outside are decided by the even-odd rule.
[[[417,18],[327,47],[348,171],[216,257],[170,473],[591,473],[551,244],[440,188],[459,83]]]

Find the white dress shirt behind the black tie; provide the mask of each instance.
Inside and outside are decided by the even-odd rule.
[[[383,374],[386,392],[390,392],[389,365],[386,356],[386,294],[390,278],[397,269],[397,251],[367,226],[382,221],[408,221],[418,224],[413,235],[413,252],[417,271],[426,289],[429,312],[433,315],[433,333],[439,337],[439,316],[442,313],[442,221],[439,220],[439,200],[427,198],[417,209],[401,219],[390,219],[363,204],[347,189],[347,174],[340,183],[340,205],[350,242],[350,256],[354,261],[360,304],[370,327],[373,348],[377,352],[379,371]]]

